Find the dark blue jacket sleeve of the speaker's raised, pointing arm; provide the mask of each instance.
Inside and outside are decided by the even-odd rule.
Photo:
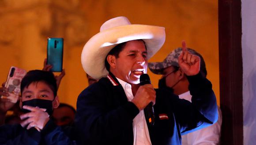
[[[187,78],[192,102],[176,99],[174,103],[174,113],[182,135],[210,126],[218,120],[217,102],[211,82],[200,73]]]

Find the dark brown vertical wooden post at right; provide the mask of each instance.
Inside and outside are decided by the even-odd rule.
[[[221,145],[243,145],[241,0],[218,0]]]

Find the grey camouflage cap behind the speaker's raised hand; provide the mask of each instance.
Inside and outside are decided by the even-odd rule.
[[[203,60],[203,57],[201,54],[196,52],[195,50],[188,48],[188,51],[192,54],[195,54],[200,57],[200,71],[207,75],[207,71],[205,68],[205,63]],[[178,47],[177,49],[173,50],[164,60],[163,62],[149,62],[148,63],[148,68],[151,70],[151,72],[155,74],[163,74],[163,70],[166,69],[169,66],[179,66],[179,61],[178,58],[182,52],[182,48]]]

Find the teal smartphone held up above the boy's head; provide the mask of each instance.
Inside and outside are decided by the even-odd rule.
[[[61,72],[63,62],[63,38],[48,38],[47,64],[53,66],[50,71]]]

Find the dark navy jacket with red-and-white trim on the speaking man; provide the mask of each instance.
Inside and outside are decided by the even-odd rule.
[[[78,145],[133,145],[132,120],[139,109],[127,100],[113,74],[87,87],[78,97],[75,130]],[[147,126],[152,145],[181,145],[181,134],[218,120],[211,82],[200,74],[188,76],[192,103],[169,89],[155,89],[155,123]],[[167,116],[167,117],[162,117]]]

